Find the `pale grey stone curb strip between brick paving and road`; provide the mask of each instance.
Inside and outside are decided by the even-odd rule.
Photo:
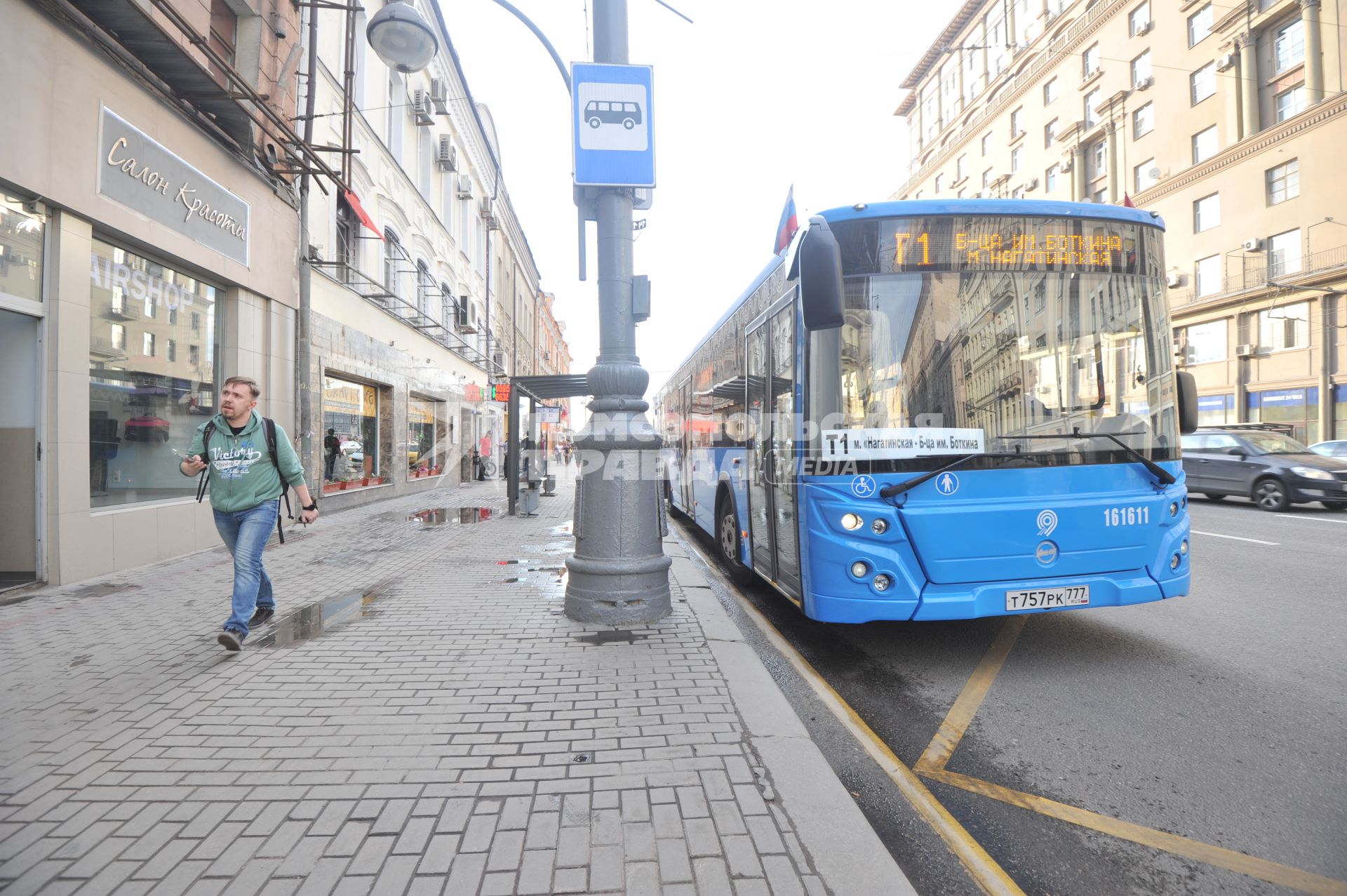
[[[680,540],[672,544],[688,551]],[[745,736],[824,885],[839,896],[915,895],[785,694],[721,606],[711,589],[711,571],[691,555],[665,552],[674,558],[669,575],[683,589],[706,635],[734,709],[744,719]]]

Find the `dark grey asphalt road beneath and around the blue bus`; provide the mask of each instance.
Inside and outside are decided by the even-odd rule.
[[[1189,509],[1192,594],[1030,616],[946,768],[1286,870],[1268,883],[928,780],[1028,893],[1324,887],[1294,869],[1347,892],[1347,513],[1202,497]],[[828,625],[765,586],[741,593],[908,767],[1005,625]],[[913,885],[978,892],[795,670],[750,640]]]

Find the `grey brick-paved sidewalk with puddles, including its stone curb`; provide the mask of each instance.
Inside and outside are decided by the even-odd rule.
[[[0,891],[911,892],[676,540],[667,620],[562,614],[558,492],[273,542],[241,653],[224,548],[0,606]]]

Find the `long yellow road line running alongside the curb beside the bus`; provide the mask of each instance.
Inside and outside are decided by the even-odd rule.
[[[726,583],[721,571],[713,566],[700,551],[698,551],[692,544],[687,544],[690,551],[694,551],[709,571],[713,575],[721,578],[722,583]],[[762,613],[753,606],[746,597],[744,597],[737,587],[727,585],[726,590],[734,596],[740,608],[753,620],[758,631],[762,632],[764,637],[772,643],[789,663],[795,667],[795,671],[800,674],[814,693],[823,701],[824,706],[836,717],[839,722],[851,736],[857,738],[861,746],[869,753],[870,759],[884,769],[884,773],[897,786],[898,792],[908,800],[913,810],[940,835],[944,845],[951,853],[963,864],[968,870],[968,874],[977,881],[978,887],[982,888],[985,893],[994,896],[1024,896],[1024,891],[1016,885],[1014,880],[997,864],[991,856],[987,854],[978,841],[973,839],[973,835],[963,829],[962,825],[946,810],[944,806],[927,790],[927,786],[921,783],[912,771],[902,764],[902,761],[893,755],[878,734],[876,734],[865,721],[855,714],[842,695],[838,694],[832,687],[823,680],[818,670],[810,664],[807,659],[800,656],[800,652],[785,640],[776,627]]]

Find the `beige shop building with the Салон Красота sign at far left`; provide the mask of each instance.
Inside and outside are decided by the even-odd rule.
[[[0,586],[218,544],[178,462],[222,375],[294,419],[298,15],[245,8],[0,0]]]

